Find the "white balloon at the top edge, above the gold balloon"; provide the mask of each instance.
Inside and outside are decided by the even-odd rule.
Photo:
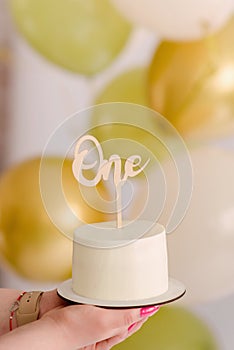
[[[112,0],[129,20],[169,40],[193,40],[219,29],[233,0]]]

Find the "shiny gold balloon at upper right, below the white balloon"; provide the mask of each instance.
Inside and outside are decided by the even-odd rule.
[[[233,132],[234,19],[194,42],[162,42],[149,70],[151,107],[186,136]]]

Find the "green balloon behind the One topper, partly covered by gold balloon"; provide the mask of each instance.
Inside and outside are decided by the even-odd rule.
[[[147,79],[147,67],[136,67],[126,71],[113,79],[104,88],[97,97],[96,104],[126,102],[147,107],[149,105]],[[95,112],[91,117],[90,126],[92,127],[92,125],[95,124],[100,126],[95,127],[90,133],[100,142],[105,142],[109,139],[130,138],[135,142],[132,146],[132,151],[136,154],[141,154],[143,162],[149,158],[148,150],[152,152],[158,160],[168,157],[164,145],[146,130],[140,129],[135,125],[111,124],[111,122],[116,122],[116,120],[118,120],[118,114],[119,111],[116,104],[113,105],[112,110],[110,108],[108,109],[108,113],[105,113],[104,108],[101,109],[101,112]],[[156,134],[158,134],[159,130],[161,133],[164,133],[164,130],[160,129],[159,121],[155,117],[156,113],[154,115],[148,108],[145,108],[145,110],[142,108],[139,111],[134,107],[131,108],[131,105],[126,104],[125,114],[126,117],[132,115],[132,119],[135,119],[136,122],[137,120],[144,120],[144,126]],[[107,125],[103,125],[106,123]],[[145,147],[145,149],[143,149],[142,146]],[[106,157],[116,152],[115,144],[114,147],[112,147],[110,143],[104,144],[102,147]],[[125,151],[125,145],[120,144],[118,150],[120,152]]]

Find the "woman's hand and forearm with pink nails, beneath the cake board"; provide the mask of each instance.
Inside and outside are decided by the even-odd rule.
[[[45,292],[39,320],[2,336],[0,350],[110,349],[137,331],[157,310],[157,307],[112,310],[69,305],[55,290]]]

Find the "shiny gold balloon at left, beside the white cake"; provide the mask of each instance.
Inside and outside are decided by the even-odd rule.
[[[55,190],[53,178],[60,169],[59,158],[47,158],[47,181]],[[72,240],[54,226],[48,217],[39,187],[40,159],[25,161],[7,171],[0,179],[0,255],[21,276],[35,281],[60,281],[71,276]],[[62,185],[68,205],[84,222],[106,221],[107,215],[89,207],[82,198],[72,174],[72,161],[66,159],[62,168]],[[103,197],[108,192],[98,186]],[[54,201],[57,218],[67,229],[67,208]]]

